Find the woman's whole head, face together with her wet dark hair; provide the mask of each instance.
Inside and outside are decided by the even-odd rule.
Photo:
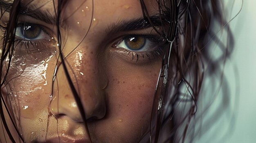
[[[233,47],[220,0],[0,0],[0,10],[1,143],[192,142],[205,76]]]

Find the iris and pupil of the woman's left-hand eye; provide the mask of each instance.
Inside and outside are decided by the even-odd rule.
[[[41,33],[41,28],[34,25],[21,26],[20,30],[25,39],[35,39]]]

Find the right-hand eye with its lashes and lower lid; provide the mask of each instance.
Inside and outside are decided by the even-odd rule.
[[[126,35],[115,43],[117,54],[131,62],[151,62],[161,56],[164,38],[156,35]]]

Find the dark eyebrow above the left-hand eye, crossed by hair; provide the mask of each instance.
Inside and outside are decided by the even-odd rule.
[[[13,2],[6,2],[5,0],[0,0],[1,9],[4,9],[9,13],[11,11],[12,4]],[[36,7],[35,4],[29,4],[29,7],[27,5],[21,4],[20,9],[18,9],[18,11],[20,15],[30,16],[31,18],[41,20],[48,24],[56,24],[56,16],[52,15],[49,11],[45,9],[40,9],[40,7]],[[35,10],[31,8],[34,8]]]

